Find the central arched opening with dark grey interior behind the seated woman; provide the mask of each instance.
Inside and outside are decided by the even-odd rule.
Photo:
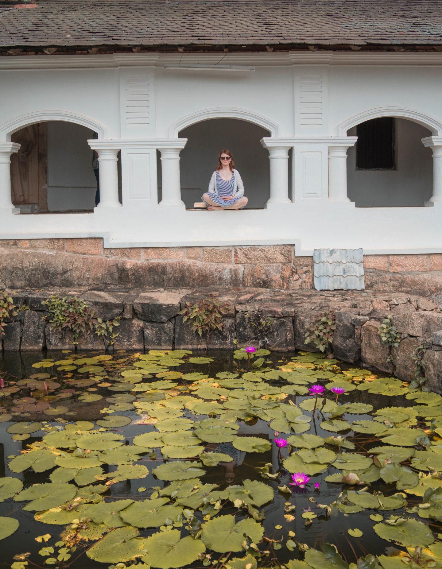
[[[249,199],[246,208],[263,208],[270,196],[270,166],[260,141],[268,136],[270,132],[261,126],[233,118],[208,119],[181,130],[179,138],[188,139],[180,159],[181,199],[186,208],[201,201],[223,149],[234,156]]]

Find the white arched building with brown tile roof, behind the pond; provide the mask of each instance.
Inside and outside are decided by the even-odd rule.
[[[440,0],[2,5],[0,238],[441,253],[441,18]],[[13,204],[20,136],[36,189]],[[247,209],[193,211],[225,148]]]

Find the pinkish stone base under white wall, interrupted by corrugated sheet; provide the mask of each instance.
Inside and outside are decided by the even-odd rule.
[[[367,290],[441,295],[442,254],[365,255]],[[102,238],[0,240],[0,287],[313,289],[294,245],[104,248]],[[436,299],[439,300],[439,299]]]

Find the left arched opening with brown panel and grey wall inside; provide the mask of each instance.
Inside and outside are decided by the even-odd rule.
[[[38,122],[16,130],[11,141],[11,197],[20,213],[85,212],[96,205],[100,177],[88,127],[67,121]],[[98,176],[98,178],[97,178]],[[121,160],[118,160],[121,201]]]

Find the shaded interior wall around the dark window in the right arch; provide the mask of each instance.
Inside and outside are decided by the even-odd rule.
[[[396,118],[396,170],[356,170],[356,146],[347,154],[348,197],[356,207],[423,206],[432,195],[431,149],[421,139],[431,131]],[[347,131],[356,136],[356,126]]]

